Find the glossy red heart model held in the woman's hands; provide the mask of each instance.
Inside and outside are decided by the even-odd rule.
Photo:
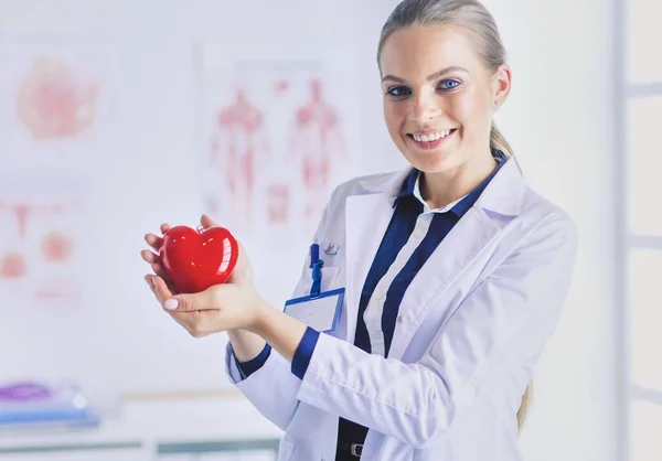
[[[197,230],[172,227],[159,248],[161,262],[172,283],[183,293],[197,293],[225,283],[239,257],[239,246],[224,227]]]

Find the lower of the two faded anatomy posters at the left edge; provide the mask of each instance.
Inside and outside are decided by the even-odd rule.
[[[8,179],[0,185],[2,305],[75,307],[83,276],[84,193],[72,183]]]

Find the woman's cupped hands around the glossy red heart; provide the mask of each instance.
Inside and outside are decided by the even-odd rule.
[[[216,227],[216,224],[205,215],[201,217],[200,224],[205,233],[207,229]],[[161,225],[161,233],[164,236],[170,229],[168,224]],[[161,251],[163,237],[147,234],[145,239],[154,251]],[[220,248],[222,247],[218,247],[217,250],[221,250]],[[159,254],[149,250],[141,251],[142,259],[151,265],[156,274],[145,277],[156,298],[167,312],[195,337],[234,329],[254,331],[259,326],[261,312],[267,304],[253,285],[253,268],[246,251],[241,244],[235,249],[238,249],[238,258],[234,269],[229,269],[232,274],[227,281],[191,293],[180,292],[181,280],[177,280],[179,281],[177,283],[168,276]],[[174,259],[177,258],[173,258],[173,261]],[[196,287],[195,283],[189,286],[184,283],[182,290],[189,291],[186,288]]]

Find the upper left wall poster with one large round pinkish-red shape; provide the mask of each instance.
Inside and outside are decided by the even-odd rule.
[[[81,168],[94,160],[110,118],[114,64],[108,50],[92,41],[0,41],[3,171]]]

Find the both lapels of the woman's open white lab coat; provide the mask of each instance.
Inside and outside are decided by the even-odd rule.
[[[467,267],[499,237],[501,226],[520,214],[525,183],[514,159],[496,173],[473,207],[420,268],[401,303],[389,357],[402,358],[409,341],[437,300]],[[393,202],[410,169],[361,181],[365,194],[346,199],[348,341],[354,341],[361,290],[393,215]],[[493,221],[491,216],[500,216]],[[501,221],[505,217],[505,221]]]

